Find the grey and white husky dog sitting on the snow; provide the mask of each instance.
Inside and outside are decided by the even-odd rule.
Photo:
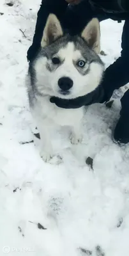
[[[54,156],[50,131],[55,125],[72,129],[72,143],[82,140],[80,124],[84,107],[58,108],[50,97],[75,99],[93,92],[100,84],[103,63],[100,52],[100,26],[92,19],[80,36],[63,35],[57,17],[50,14],[41,42],[41,49],[29,65],[27,89],[29,104],[40,132],[40,155],[44,161]]]

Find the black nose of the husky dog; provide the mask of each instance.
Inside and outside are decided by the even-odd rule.
[[[66,91],[70,90],[70,88],[72,88],[73,80],[70,79],[69,77],[61,77],[58,80],[58,85],[59,85],[59,88],[61,88],[61,90],[66,92]]]

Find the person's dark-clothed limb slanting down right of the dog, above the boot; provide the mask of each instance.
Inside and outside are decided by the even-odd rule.
[[[105,92],[104,101],[108,101],[114,90],[124,86],[129,82],[129,19],[125,20],[122,35],[122,51],[121,57],[118,58],[112,65],[105,70],[105,75],[102,81],[102,87]]]

